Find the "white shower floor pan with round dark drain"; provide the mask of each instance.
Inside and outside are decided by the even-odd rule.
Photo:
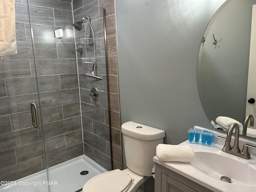
[[[80,172],[88,171],[81,175]],[[76,192],[92,177],[107,170],[85,155],[68,160],[49,168],[49,181],[46,170],[16,180],[10,186],[0,186],[0,192]]]

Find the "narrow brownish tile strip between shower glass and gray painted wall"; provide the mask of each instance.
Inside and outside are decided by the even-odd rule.
[[[112,165],[113,169],[122,170],[121,125],[119,110],[118,63],[116,49],[116,14],[115,0],[73,0],[73,8],[81,6],[98,6],[106,10],[106,35],[108,58],[108,86],[110,96],[110,121],[112,138]],[[81,15],[82,16],[82,15]],[[86,150],[86,148],[85,148]],[[89,150],[89,149],[88,149]]]

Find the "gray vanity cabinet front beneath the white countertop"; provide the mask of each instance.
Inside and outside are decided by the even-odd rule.
[[[213,192],[176,172],[155,163],[155,192]]]

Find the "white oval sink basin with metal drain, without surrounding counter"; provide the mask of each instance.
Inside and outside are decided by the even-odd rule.
[[[232,184],[256,186],[256,170],[237,159],[230,158],[229,154],[197,151],[195,156],[196,159],[190,164],[212,178],[220,180],[221,176],[227,176]]]

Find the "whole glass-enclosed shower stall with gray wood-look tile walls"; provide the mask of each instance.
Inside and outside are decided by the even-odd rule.
[[[104,14],[71,0],[15,0],[18,54],[0,56],[1,192],[29,191],[22,182],[30,177],[48,182],[36,184],[37,191],[75,192],[86,179],[70,183],[74,189],[61,186],[74,174],[92,166],[95,174],[112,170]],[[87,20],[80,31],[73,23],[88,16],[94,41],[81,44],[92,33],[85,30]],[[100,79],[86,76],[92,69]],[[21,181],[19,190],[12,190],[14,181]]]

